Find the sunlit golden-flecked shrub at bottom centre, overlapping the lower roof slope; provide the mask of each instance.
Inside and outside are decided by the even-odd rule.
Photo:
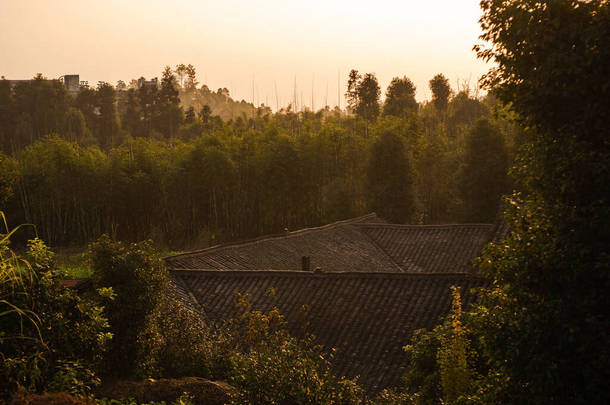
[[[297,340],[284,329],[280,313],[251,311],[247,296],[237,296],[245,310],[232,320],[230,382],[238,393],[233,404],[356,404],[364,392],[356,381],[336,377],[332,354],[313,338]]]

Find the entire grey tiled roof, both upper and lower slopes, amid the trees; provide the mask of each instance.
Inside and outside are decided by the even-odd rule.
[[[252,309],[278,308],[292,334],[336,348],[335,371],[375,393],[400,383],[402,347],[448,313],[450,286],[473,301],[470,290],[486,282],[472,260],[507,232],[502,223],[392,225],[369,214],[165,260],[176,294],[207,322],[237,315],[235,294],[249,293]],[[302,256],[324,271],[300,271]]]

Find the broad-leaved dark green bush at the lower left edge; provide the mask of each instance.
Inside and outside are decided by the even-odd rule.
[[[111,291],[78,296],[40,240],[19,258],[0,237],[0,402],[19,386],[90,394],[112,337],[102,306]]]

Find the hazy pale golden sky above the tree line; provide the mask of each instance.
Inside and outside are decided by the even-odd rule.
[[[337,104],[347,73],[373,72],[382,88],[411,78],[417,99],[444,73],[471,86],[479,0],[139,1],[0,0],[0,75],[23,79],[78,73],[116,84],[192,63],[200,83],[275,108],[293,99]],[[328,89],[328,91],[327,91]],[[345,103],[342,100],[341,105]]]

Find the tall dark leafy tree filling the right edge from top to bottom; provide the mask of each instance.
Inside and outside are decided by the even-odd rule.
[[[610,3],[481,2],[484,84],[528,128],[511,237],[483,261],[483,402],[609,403]],[[523,149],[523,148],[522,148]]]

